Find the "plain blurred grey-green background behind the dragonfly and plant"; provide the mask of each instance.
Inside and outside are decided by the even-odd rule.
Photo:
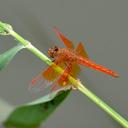
[[[63,47],[52,28],[57,26],[75,45],[84,42],[89,57],[119,72],[118,79],[82,68],[80,79],[90,90],[128,117],[128,1],[121,0],[0,0],[0,20],[47,54]],[[17,44],[0,37],[0,53]],[[21,105],[39,97],[29,92],[33,77],[46,64],[27,50],[21,51],[0,73],[0,97]],[[43,124],[43,128],[121,128],[111,117],[78,91]]]

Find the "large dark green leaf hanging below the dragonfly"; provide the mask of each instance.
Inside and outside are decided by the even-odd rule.
[[[69,92],[70,90],[54,92],[17,108],[4,125],[6,128],[38,128],[68,96]]]

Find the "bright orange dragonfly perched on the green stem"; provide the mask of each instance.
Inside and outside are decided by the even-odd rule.
[[[79,65],[83,65],[94,70],[106,73],[113,77],[118,77],[118,74],[106,67],[96,64],[94,61],[90,60],[83,44],[80,42],[76,48],[74,48],[73,43],[66,38],[57,28],[54,28],[57,37],[64,43],[66,48],[60,48],[54,46],[48,50],[48,55],[54,59],[54,63],[64,69],[63,74],[59,74],[54,70],[54,65],[49,66],[44,70],[38,77],[34,78],[31,82],[32,85],[39,79],[46,79],[49,82],[53,82],[52,90],[55,89],[57,85],[59,87],[66,87],[71,85],[68,80],[68,75],[71,75],[77,79],[77,75],[80,72]]]

